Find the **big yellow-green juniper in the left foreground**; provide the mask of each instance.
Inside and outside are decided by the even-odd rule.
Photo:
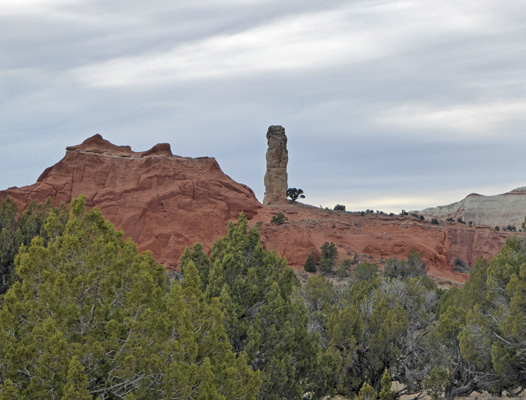
[[[0,377],[18,398],[255,398],[258,374],[231,351],[197,267],[169,285],[83,198],[47,246],[21,247],[16,274],[0,310]]]

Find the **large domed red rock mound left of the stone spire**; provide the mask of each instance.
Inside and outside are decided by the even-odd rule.
[[[253,191],[225,175],[214,158],[174,156],[169,144],[133,152],[100,135],[68,147],[37,183],[2,191],[0,201],[10,196],[24,209],[31,200],[69,203],[80,195],[167,267],[196,241],[209,248],[240,212],[252,218],[261,208]]]

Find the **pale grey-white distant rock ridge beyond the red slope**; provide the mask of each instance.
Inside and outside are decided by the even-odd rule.
[[[465,199],[447,206],[426,208],[418,212],[428,218],[446,220],[462,218],[466,223],[500,228],[508,225],[521,229],[526,217],[526,187],[496,196],[470,194]]]

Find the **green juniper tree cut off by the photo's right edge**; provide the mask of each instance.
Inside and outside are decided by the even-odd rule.
[[[463,372],[471,391],[513,393],[526,386],[526,242],[508,239],[489,265],[481,264],[465,292],[464,301],[473,306],[459,334],[462,357],[471,366],[471,374]]]

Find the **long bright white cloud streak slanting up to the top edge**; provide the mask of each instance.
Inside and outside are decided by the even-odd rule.
[[[121,87],[362,63],[387,68],[411,63],[409,54],[433,51],[451,37],[489,35],[495,28],[481,10],[465,2],[357,2],[196,42],[176,41],[168,50],[145,48],[138,55],[86,64],[73,74],[88,85]]]

